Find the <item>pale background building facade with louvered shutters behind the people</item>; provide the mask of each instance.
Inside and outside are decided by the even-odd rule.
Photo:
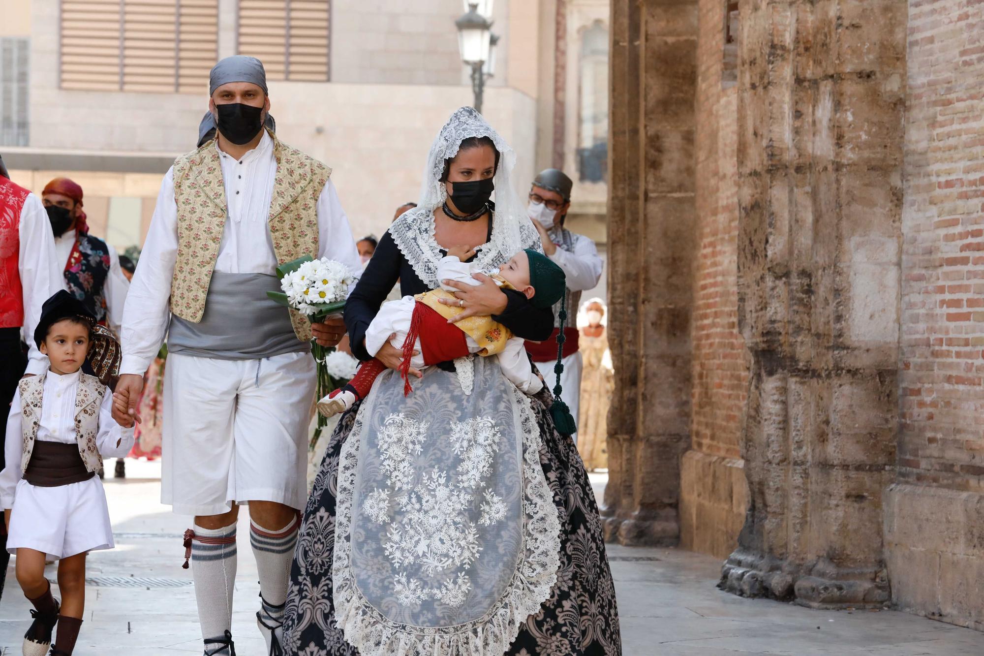
[[[593,148],[589,179],[572,174],[579,187],[571,227],[589,231],[603,248],[607,192],[599,163],[607,159],[597,153],[607,136],[601,32],[608,6],[568,3],[491,3],[500,39],[483,110],[517,151],[523,196],[535,172],[555,164],[555,151],[560,165],[576,170],[583,144]],[[0,152],[32,190],[55,175],[77,180],[92,230],[121,248],[142,243],[161,175],[194,148],[218,58],[264,61],[277,135],[333,167],[357,237],[382,234],[394,210],[417,199],[434,135],[472,101],[455,28],[461,0],[11,4],[0,29]],[[569,32],[558,30],[561,22]],[[582,28],[592,22],[599,28],[584,46]],[[568,39],[575,44],[568,47]],[[569,105],[557,119],[554,108]]]

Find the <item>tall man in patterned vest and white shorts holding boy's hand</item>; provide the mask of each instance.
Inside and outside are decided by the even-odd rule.
[[[353,273],[361,266],[332,170],[263,127],[270,98],[260,60],[221,60],[210,92],[215,140],[178,158],[161,183],[124,311],[114,412],[136,414],[166,332],[161,500],[195,515],[185,547],[205,653],[235,653],[237,504],[248,503],[257,621],[269,653],[279,654],[307,495],[312,328],[334,346],[344,327],[340,320],[312,327],[266,293],[279,290],[277,265],[304,255],[338,260]]]

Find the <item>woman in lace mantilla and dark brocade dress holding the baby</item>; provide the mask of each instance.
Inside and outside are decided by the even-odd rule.
[[[510,184],[516,156],[470,107],[442,128],[419,206],[383,235],[348,299],[352,351],[393,285],[437,288],[448,248],[494,271],[539,237]],[[494,183],[496,203],[488,202]],[[546,339],[549,309],[490,280],[461,285],[464,315]],[[451,301],[455,302],[455,301]],[[304,511],[283,621],[302,656],[620,654],[615,589],[584,466],[496,358],[390,370],[341,417]],[[560,404],[558,404],[558,408]]]

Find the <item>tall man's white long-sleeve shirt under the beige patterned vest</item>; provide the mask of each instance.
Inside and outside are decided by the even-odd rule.
[[[277,174],[274,141],[264,133],[260,144],[239,160],[221,150],[219,155],[228,215],[215,260],[215,273],[274,275],[277,255],[268,225]],[[355,239],[331,179],[318,197],[316,209],[318,257],[338,260],[353,274],[361,273],[362,263]],[[177,212],[174,170],[171,168],[160,183],[151,228],[126,299],[120,373],[143,375],[163,342],[170,320],[168,298],[178,251]]]

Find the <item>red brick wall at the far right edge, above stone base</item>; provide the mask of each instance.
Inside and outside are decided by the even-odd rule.
[[[901,481],[984,491],[984,5],[909,3]]]

